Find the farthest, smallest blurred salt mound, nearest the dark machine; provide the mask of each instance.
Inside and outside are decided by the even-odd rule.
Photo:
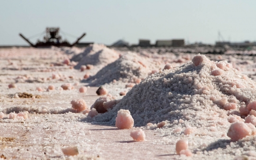
[[[106,47],[103,44],[91,44],[83,53],[72,57],[71,61],[78,62],[74,67],[80,69],[82,65],[102,65],[105,66],[119,58],[119,53]]]

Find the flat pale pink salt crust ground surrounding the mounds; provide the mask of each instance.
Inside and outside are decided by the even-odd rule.
[[[61,64],[65,58],[71,58],[80,51],[75,48],[70,50],[69,48],[55,47],[0,50],[0,111],[6,114],[12,111],[29,112],[28,119],[25,120],[6,118],[0,120],[0,155],[3,154],[7,159],[186,159],[184,156],[175,154],[175,143],[177,140],[185,138],[189,142],[189,149],[194,154],[192,159],[231,160],[240,155],[243,155],[244,158],[249,157],[249,159],[255,157],[255,137],[231,142],[226,136],[230,124],[224,123],[221,126],[216,124],[215,126],[215,119],[210,117],[212,116],[211,111],[206,113],[210,115],[206,120],[199,119],[198,125],[201,126],[201,130],[196,129],[190,135],[184,135],[184,130],[187,124],[191,125],[191,120],[180,121],[179,114],[175,116],[177,122],[170,121],[160,129],[156,127],[156,124],[151,127],[143,125],[141,128],[145,131],[146,142],[132,141],[129,136],[131,130],[116,130],[116,127],[97,125],[97,122],[85,122],[86,115],[82,113],[65,113],[72,111],[69,109],[72,99],[83,98],[90,107],[99,98],[95,93],[97,88],[89,88],[86,93],[79,93],[78,89],[86,85],[84,83],[74,86],[73,90],[59,90],[64,83],[79,82],[85,72],[73,70],[74,64],[70,66],[51,64]],[[170,62],[176,66],[188,62],[194,55],[169,53],[169,55],[157,56],[152,54],[153,51],[149,54],[148,49],[139,49],[138,51],[140,56],[144,54],[155,60]],[[121,51],[120,53],[122,54]],[[166,50],[164,49],[162,53],[166,53]],[[208,55],[208,57],[216,61],[228,60],[234,68],[241,67],[243,72],[249,73],[249,76],[255,74],[250,69],[255,62],[254,57],[246,56],[244,59],[229,55]],[[93,70],[91,72],[92,74],[97,73]],[[60,74],[63,79],[51,79],[52,74]],[[148,80],[157,79],[159,74],[164,73],[156,73]],[[69,76],[73,77],[69,78]],[[17,77],[19,78],[17,79]],[[27,79],[28,81],[26,81]],[[8,84],[13,82],[18,82],[17,88],[8,89]],[[118,81],[104,86],[110,94],[121,98],[119,92],[129,90],[125,88],[126,84]],[[49,92],[36,90],[37,87],[46,90],[49,85],[54,85],[55,90]],[[42,98],[35,100],[12,98],[17,92],[28,92],[40,95]],[[218,111],[218,108],[213,107],[212,111]],[[228,111],[223,112],[227,113]],[[189,112],[188,115],[190,114],[192,113]],[[155,118],[158,119],[158,117]],[[183,115],[181,115],[181,119],[183,119]],[[161,120],[160,116],[159,121]],[[144,120],[137,122],[137,124],[143,123]],[[208,126],[208,124],[212,124],[212,126]],[[174,133],[172,132],[174,129],[176,129],[175,131],[181,130],[181,132]],[[198,134],[199,132],[200,134]],[[223,137],[222,133],[225,134]],[[80,154],[74,157],[64,156],[61,149],[74,145],[78,147]]]

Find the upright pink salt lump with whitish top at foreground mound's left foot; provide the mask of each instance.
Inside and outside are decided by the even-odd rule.
[[[116,117],[116,127],[119,129],[130,129],[134,125],[134,120],[129,110],[120,109]]]

